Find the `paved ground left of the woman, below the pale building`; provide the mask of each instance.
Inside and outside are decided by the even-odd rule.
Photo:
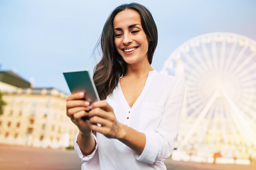
[[[73,150],[0,145],[0,170],[81,170]]]

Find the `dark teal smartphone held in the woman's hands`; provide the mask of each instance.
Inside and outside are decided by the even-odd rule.
[[[100,100],[89,70],[63,72],[71,93],[85,91],[85,100],[90,103]]]

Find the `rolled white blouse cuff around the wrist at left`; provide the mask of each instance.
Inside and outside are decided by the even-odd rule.
[[[82,151],[81,151],[79,145],[78,145],[77,142],[76,142],[78,135],[79,135],[79,132],[76,134],[76,137],[75,137],[75,139],[74,139],[74,150],[75,150],[75,152],[76,152],[76,155],[79,157],[79,159],[81,159],[81,161],[83,161],[83,162],[88,162],[88,161],[90,161],[90,160],[94,157],[95,152],[97,151],[97,148],[98,148],[97,138],[96,138],[96,136],[95,136],[94,134],[92,134],[94,140],[96,141],[96,146],[95,146],[94,151],[93,151],[90,155],[85,156],[85,155],[83,155],[83,153],[82,153]]]

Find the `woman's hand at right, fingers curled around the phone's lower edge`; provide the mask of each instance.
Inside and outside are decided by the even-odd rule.
[[[90,128],[108,138],[121,139],[123,124],[117,121],[114,110],[108,102],[106,100],[94,102],[91,109],[88,115],[91,122]],[[101,126],[97,126],[97,124],[101,124]]]

